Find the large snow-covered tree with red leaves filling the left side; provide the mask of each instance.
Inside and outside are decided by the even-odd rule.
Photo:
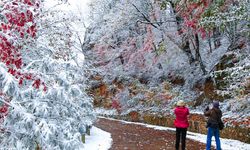
[[[1,122],[1,148],[82,149],[81,134],[95,115],[85,93],[84,55],[68,43],[73,31],[63,26],[63,20],[43,26],[43,20],[55,18],[44,15],[40,1],[3,3],[0,104],[7,106],[7,114]],[[59,29],[65,34],[54,41],[61,42],[53,46],[45,41],[48,33],[58,34]],[[20,63],[15,63],[17,58]]]

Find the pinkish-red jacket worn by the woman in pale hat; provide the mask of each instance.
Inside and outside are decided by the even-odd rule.
[[[189,115],[189,109],[187,107],[177,106],[174,110],[175,121],[174,125],[176,128],[188,128],[189,123],[187,116]]]

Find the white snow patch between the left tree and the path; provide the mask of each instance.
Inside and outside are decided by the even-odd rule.
[[[92,127],[90,136],[86,136],[84,150],[108,150],[111,147],[111,134],[99,128]]]

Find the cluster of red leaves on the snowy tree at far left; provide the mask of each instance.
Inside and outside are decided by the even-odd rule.
[[[43,90],[46,91],[46,86],[40,79],[33,74],[21,71],[23,66],[22,42],[36,36],[36,23],[31,9],[38,7],[38,0],[13,0],[12,3],[5,6],[8,11],[1,12],[7,22],[0,24],[0,32],[4,33],[0,35],[0,61],[5,63],[8,72],[18,79],[19,85],[22,85],[24,80],[33,80],[34,88],[39,89],[42,84]]]

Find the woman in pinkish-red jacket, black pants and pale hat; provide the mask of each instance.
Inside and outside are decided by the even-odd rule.
[[[176,127],[176,143],[175,149],[179,150],[180,139],[182,150],[185,150],[186,147],[186,135],[188,123],[189,109],[185,107],[185,102],[180,100],[177,102],[177,107],[174,109],[175,121],[174,125]]]

